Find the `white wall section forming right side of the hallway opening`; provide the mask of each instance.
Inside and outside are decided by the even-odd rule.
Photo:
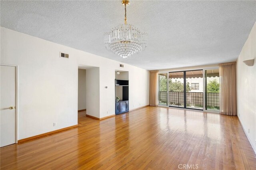
[[[100,68],[86,70],[86,115],[100,117]]]

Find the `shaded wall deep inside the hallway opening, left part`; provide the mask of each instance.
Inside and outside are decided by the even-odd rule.
[[[78,111],[86,109],[86,70],[78,69]]]

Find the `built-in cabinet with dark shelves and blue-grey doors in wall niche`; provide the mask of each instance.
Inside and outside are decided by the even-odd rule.
[[[129,111],[129,81],[128,80],[115,80],[116,86],[116,115]]]

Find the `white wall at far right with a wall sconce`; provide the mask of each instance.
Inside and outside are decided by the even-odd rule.
[[[256,152],[256,24],[237,59],[237,109],[238,118]],[[254,59],[249,67],[244,60]],[[250,129],[250,133],[249,130]]]

